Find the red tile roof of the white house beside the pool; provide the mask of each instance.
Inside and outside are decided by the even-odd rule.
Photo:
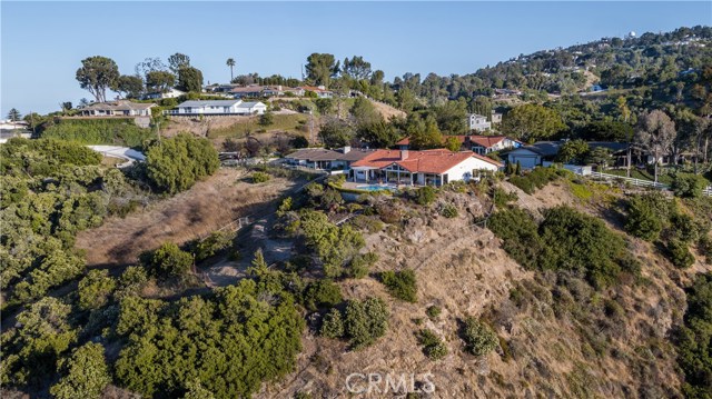
[[[377,150],[352,163],[352,167],[383,169],[396,163],[411,172],[439,174],[472,157],[502,167],[502,163],[471,151],[452,152],[445,149],[427,151]]]

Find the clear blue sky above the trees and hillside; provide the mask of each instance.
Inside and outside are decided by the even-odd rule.
[[[300,77],[312,52],[363,56],[387,79],[468,73],[520,53],[629,31],[712,24],[712,2],[0,2],[0,111],[23,114],[91,98],[80,61],[121,73],[147,57],[190,56],[206,81],[235,73]]]

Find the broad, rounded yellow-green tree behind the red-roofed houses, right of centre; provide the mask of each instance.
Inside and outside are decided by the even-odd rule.
[[[552,138],[565,129],[560,114],[534,103],[514,108],[502,121],[502,130],[506,134],[530,142]]]

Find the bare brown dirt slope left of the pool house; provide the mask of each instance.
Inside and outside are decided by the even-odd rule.
[[[146,250],[166,241],[184,243],[245,215],[263,211],[297,182],[274,178],[266,183],[239,181],[245,172],[220,169],[190,190],[150,205],[125,219],[108,218],[97,229],[82,231],[76,247],[87,252],[87,265],[131,265]]]

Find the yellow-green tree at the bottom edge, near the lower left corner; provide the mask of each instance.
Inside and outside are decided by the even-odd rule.
[[[111,382],[101,343],[88,342],[59,365],[66,373],[50,388],[57,399],[98,399]]]

